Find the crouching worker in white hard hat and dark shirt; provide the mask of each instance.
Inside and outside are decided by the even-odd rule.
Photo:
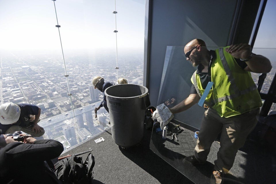
[[[32,137],[40,137],[45,131],[37,123],[41,114],[41,108],[32,104],[14,104],[11,102],[0,106],[0,129],[2,133],[12,134],[23,131]],[[34,115],[31,120],[30,116]]]

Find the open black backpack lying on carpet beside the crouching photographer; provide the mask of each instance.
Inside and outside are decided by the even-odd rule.
[[[89,153],[85,162],[82,157],[72,155],[55,163],[55,174],[64,184],[89,184],[93,179],[95,158]]]

